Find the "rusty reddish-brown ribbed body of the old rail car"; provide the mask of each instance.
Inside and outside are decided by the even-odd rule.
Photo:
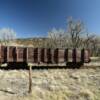
[[[33,48],[19,46],[0,46],[0,63],[33,63],[33,64],[62,64],[88,63],[90,61],[87,49]]]

